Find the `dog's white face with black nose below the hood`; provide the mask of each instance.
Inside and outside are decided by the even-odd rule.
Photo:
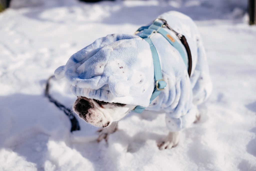
[[[107,127],[120,120],[136,106],[121,103],[108,103],[78,96],[73,111],[91,125]]]

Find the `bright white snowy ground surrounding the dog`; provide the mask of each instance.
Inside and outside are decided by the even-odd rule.
[[[0,14],[1,171],[256,170],[256,27],[247,25],[245,1],[20,2]],[[214,89],[201,120],[163,151],[163,114],[130,114],[108,143],[97,143],[97,128],[81,120],[71,134],[43,95],[46,79],[95,39],[133,34],[169,10],[191,16],[205,43]],[[67,106],[76,99],[61,81],[52,94]]]

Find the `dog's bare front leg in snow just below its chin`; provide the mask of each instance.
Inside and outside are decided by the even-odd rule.
[[[118,129],[118,121],[112,122],[111,125],[109,125],[106,128],[99,129],[99,137],[97,138],[97,142],[100,142],[102,139],[105,139],[105,141],[108,140],[109,135],[114,133]]]

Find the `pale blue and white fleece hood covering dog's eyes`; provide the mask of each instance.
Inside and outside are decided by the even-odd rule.
[[[149,44],[139,36],[111,34],[73,54],[55,77],[76,96],[147,107],[154,88]]]

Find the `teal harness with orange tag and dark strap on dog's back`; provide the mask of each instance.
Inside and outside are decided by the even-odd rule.
[[[185,55],[185,52],[183,51],[182,46],[177,42],[177,40],[172,37],[167,31],[165,31],[163,29],[163,27],[166,27],[168,29],[170,29],[171,31],[173,31],[176,36],[180,39],[180,41],[182,42],[182,44],[184,45],[186,51],[187,51],[187,56]],[[151,102],[161,93],[162,90],[165,89],[166,87],[166,82],[163,80],[162,78],[162,72],[161,72],[161,66],[160,66],[160,61],[159,61],[159,57],[158,57],[158,53],[156,51],[156,48],[154,46],[154,44],[152,43],[150,37],[154,34],[154,33],[160,33],[164,38],[166,38],[166,40],[177,49],[177,51],[180,53],[184,63],[187,66],[188,69],[188,75],[190,76],[191,74],[191,68],[192,68],[192,58],[191,58],[191,52],[189,49],[189,46],[187,44],[186,38],[184,35],[181,35],[179,33],[177,33],[176,31],[174,31],[164,19],[161,18],[157,18],[155,19],[155,21],[153,22],[153,24],[151,24],[150,26],[143,26],[140,27],[135,34],[141,32],[142,33],[139,35],[141,38],[143,38],[145,41],[147,41],[150,45],[150,49],[152,52],[152,57],[153,57],[153,64],[154,64],[154,79],[155,79],[155,88],[154,91],[151,95],[150,98],[150,104]],[[136,113],[142,113],[144,111],[145,107],[142,106],[136,106],[133,110],[133,112]]]

